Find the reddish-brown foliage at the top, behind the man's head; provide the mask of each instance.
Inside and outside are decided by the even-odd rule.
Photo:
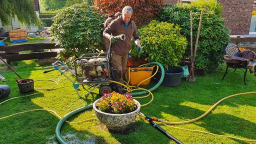
[[[94,0],[94,6],[106,14],[122,12],[126,5],[133,9],[131,19],[140,28],[157,17],[164,3],[163,0]]]

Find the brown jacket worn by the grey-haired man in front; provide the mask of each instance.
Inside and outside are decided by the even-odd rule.
[[[131,39],[139,39],[139,36],[134,21],[130,19],[129,24],[126,27],[121,16],[122,15],[111,21],[111,23],[104,29],[103,35],[105,35],[105,33],[112,34],[113,36],[120,34],[125,35],[124,40],[117,39],[112,47],[112,51],[115,54],[123,56],[125,53],[128,53],[131,48]]]

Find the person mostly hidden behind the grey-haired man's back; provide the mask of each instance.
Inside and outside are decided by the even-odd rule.
[[[107,27],[107,25],[115,18],[117,18],[119,15],[122,15],[121,12],[116,12],[114,15],[111,14],[108,16],[108,18],[105,20],[104,25],[103,25],[103,29],[105,29]],[[103,36],[104,37],[104,36]],[[103,52],[107,52],[108,48],[110,45],[110,41],[104,37],[103,42],[102,42],[102,49]]]

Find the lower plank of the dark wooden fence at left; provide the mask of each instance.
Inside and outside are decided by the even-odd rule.
[[[56,55],[57,55],[56,51],[31,52],[31,53],[24,53],[24,54],[6,53],[6,59],[8,60],[8,62],[12,62],[12,61],[21,61],[21,60],[28,60],[28,59],[41,59],[46,57],[55,57]]]

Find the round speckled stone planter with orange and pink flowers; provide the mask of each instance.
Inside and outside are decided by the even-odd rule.
[[[130,94],[120,94],[115,91],[105,93],[93,102],[92,107],[99,121],[114,131],[126,129],[140,110],[139,102]]]

